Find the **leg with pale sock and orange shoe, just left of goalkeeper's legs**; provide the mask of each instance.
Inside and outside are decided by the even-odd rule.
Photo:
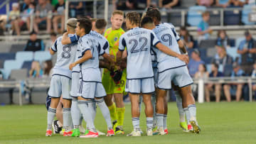
[[[107,123],[107,136],[113,136],[114,131],[112,129],[110,111],[109,111],[109,109],[107,109],[107,105],[105,104],[105,101],[103,99],[104,96],[106,96],[106,92],[105,92],[103,85],[101,83],[97,83],[95,101],[97,103],[97,106],[102,111],[102,115],[105,118],[105,121]]]

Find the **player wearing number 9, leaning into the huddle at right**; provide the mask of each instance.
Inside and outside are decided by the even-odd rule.
[[[157,9],[152,9],[151,11],[147,11],[146,16],[149,16],[153,19],[156,24],[156,28],[154,28],[154,33],[161,40],[164,45],[168,46],[171,50],[180,53],[180,48],[184,49],[183,52],[186,51],[185,46],[178,34],[175,31],[173,25],[169,23],[160,23],[161,14]],[[157,133],[162,133],[164,131],[163,128],[163,119],[164,119],[164,99],[166,97],[166,89],[171,89],[171,81],[180,87],[181,96],[182,96],[182,104],[183,109],[188,108],[188,112],[190,113],[190,123],[193,126],[193,131],[195,133],[199,133],[201,130],[196,121],[196,104],[193,98],[193,94],[191,92],[191,84],[193,84],[193,79],[188,74],[188,69],[186,67],[186,63],[178,60],[176,57],[170,57],[169,55],[164,55],[160,50],[156,50],[158,68],[159,68],[159,79],[158,79],[158,94],[156,99],[156,121],[158,130]],[[172,65],[169,65],[169,64]]]

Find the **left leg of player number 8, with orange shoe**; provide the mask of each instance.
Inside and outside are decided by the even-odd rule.
[[[56,114],[56,109],[58,106],[58,103],[60,101],[60,77],[55,75],[50,80],[50,89],[48,91],[48,96],[51,98],[50,106],[47,113],[47,130],[46,130],[46,136],[51,136],[52,131],[52,123],[53,118]]]

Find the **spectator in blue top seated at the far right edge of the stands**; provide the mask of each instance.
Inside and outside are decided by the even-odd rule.
[[[249,31],[245,31],[245,40],[242,40],[238,53],[241,55],[241,68],[245,74],[251,74],[252,65],[255,62],[256,41],[252,38]]]

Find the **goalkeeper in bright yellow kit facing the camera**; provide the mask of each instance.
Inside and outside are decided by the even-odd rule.
[[[107,38],[108,42],[110,43],[110,55],[115,57],[115,59],[119,46],[119,38],[122,34],[124,34],[124,31],[121,28],[123,21],[124,12],[114,11],[111,17],[112,27],[108,28],[105,32],[105,38]],[[115,70],[117,70],[117,67],[114,67],[114,71]],[[123,125],[125,107],[123,93],[126,83],[126,76],[126,69],[122,71],[122,78],[119,80],[119,82],[114,82],[110,75],[110,70],[107,70],[107,68],[103,70],[102,74],[102,84],[107,92],[107,96],[105,96],[104,99],[108,108],[110,109],[110,116],[113,121],[115,134],[124,134]]]

